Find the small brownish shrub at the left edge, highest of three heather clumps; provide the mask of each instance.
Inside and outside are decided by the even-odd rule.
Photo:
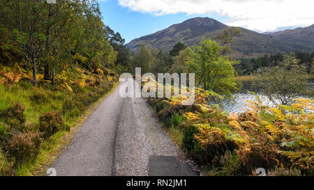
[[[8,125],[21,125],[25,122],[25,116],[23,114],[25,108],[21,102],[17,102],[12,106],[8,107],[8,109],[1,111],[1,118],[4,118]]]

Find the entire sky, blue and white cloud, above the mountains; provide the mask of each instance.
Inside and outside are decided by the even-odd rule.
[[[313,0],[98,0],[103,21],[126,43],[193,17],[257,32],[314,24]]]

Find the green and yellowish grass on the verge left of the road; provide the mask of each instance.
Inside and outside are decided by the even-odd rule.
[[[72,116],[70,113],[73,110],[71,109],[63,113],[63,128],[43,141],[39,155],[33,161],[22,164],[15,163],[15,175],[45,174],[47,168],[66,149],[66,146],[70,143],[84,121],[87,120],[88,116],[117,87],[117,83],[113,82],[104,81],[103,84],[104,86],[99,85],[95,88],[87,86],[81,90],[77,90],[78,93],[71,93],[61,86],[45,86],[45,84],[42,86],[33,86],[25,82],[19,82],[11,86],[0,84],[0,111],[7,109],[11,104],[21,102],[25,107],[24,116],[27,125],[38,126],[38,118],[43,113],[63,111],[63,104],[69,99],[82,103],[84,109],[79,112],[78,116]],[[105,93],[100,93],[99,88],[103,88],[103,92]],[[0,118],[0,138],[1,134],[6,132],[5,125],[4,120]],[[1,147],[3,146],[1,143],[0,175],[3,173],[1,169],[8,168],[10,160],[14,161],[14,158],[1,152]]]

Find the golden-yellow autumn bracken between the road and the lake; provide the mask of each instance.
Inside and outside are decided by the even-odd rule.
[[[192,106],[182,106],[180,98],[148,99],[158,107],[157,116],[166,125],[174,114],[182,120],[182,146],[209,175],[255,175],[265,168],[269,175],[313,175],[314,100],[295,99],[290,106],[265,106],[248,101],[244,113],[228,114],[196,90]],[[191,109],[196,106],[197,109]],[[167,113],[167,114],[165,114]]]

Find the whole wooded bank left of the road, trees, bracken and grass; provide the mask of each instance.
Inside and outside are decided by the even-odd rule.
[[[32,175],[116,86],[128,52],[97,1],[1,0],[0,9],[0,175]]]

